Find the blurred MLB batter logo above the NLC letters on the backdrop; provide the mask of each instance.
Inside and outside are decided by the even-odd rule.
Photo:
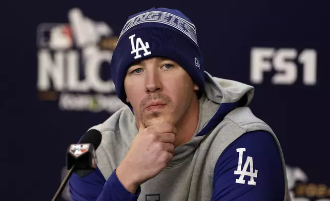
[[[43,23],[37,28],[38,48],[65,50],[73,47],[72,29],[69,24]]]

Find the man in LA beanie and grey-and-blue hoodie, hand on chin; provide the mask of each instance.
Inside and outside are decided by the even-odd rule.
[[[254,88],[203,70],[183,13],[130,16],[111,73],[128,107],[92,127],[98,167],[72,175],[72,200],[290,200],[278,140],[247,107]]]

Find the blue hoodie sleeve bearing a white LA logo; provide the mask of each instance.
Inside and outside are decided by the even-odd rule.
[[[218,158],[212,201],[278,201],[284,193],[282,160],[270,133],[245,133]]]

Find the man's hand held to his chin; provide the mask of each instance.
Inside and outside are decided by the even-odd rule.
[[[162,122],[148,128],[142,124],[116,174],[121,184],[135,194],[139,185],[157,176],[174,154],[176,128]]]

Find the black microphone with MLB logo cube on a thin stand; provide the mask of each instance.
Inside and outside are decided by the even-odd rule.
[[[84,177],[96,168],[97,158],[95,150],[100,145],[101,140],[101,133],[96,129],[91,129],[81,137],[79,144],[71,144],[69,146],[67,150],[67,169],[69,172],[59,186],[52,201],[55,201],[63,192],[73,172],[80,177]]]

